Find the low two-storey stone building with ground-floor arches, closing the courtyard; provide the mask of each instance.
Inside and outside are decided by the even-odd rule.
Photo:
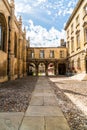
[[[34,75],[64,75],[67,68],[67,48],[61,40],[60,47],[28,47],[27,72]]]

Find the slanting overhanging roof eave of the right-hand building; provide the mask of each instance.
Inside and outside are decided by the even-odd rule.
[[[68,28],[68,26],[69,26],[70,22],[72,21],[74,15],[76,14],[76,12],[78,11],[78,9],[80,8],[82,2],[84,2],[84,0],[79,0],[79,1],[78,1],[78,3],[77,3],[77,5],[76,5],[76,7],[74,8],[74,10],[73,10],[73,12],[72,12],[72,14],[71,14],[69,20],[68,20],[67,23],[66,23],[66,26],[65,26],[65,28],[64,28],[65,30]]]

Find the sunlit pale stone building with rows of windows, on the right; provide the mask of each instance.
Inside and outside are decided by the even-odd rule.
[[[72,73],[87,73],[87,0],[79,0],[71,14],[67,32],[68,70]]]

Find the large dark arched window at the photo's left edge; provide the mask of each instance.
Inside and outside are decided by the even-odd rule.
[[[3,14],[0,13],[0,50],[6,51],[6,20]]]

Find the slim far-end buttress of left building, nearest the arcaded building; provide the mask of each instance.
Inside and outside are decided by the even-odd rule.
[[[26,30],[24,28],[23,34],[23,75],[26,76]]]

